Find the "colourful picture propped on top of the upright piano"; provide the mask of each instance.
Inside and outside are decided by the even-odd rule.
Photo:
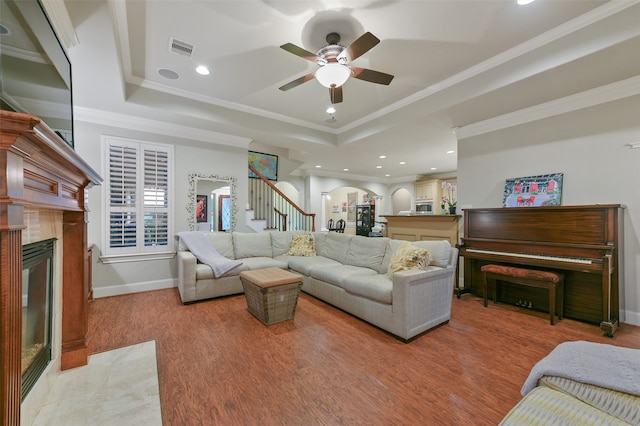
[[[562,173],[511,178],[505,181],[503,207],[559,206]]]

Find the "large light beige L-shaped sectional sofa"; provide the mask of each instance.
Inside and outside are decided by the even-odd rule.
[[[411,243],[410,250],[426,249],[428,259],[402,270],[398,249],[405,252],[407,242],[389,238],[297,231],[203,234],[217,253],[239,265],[214,276],[185,245],[187,233],[178,234],[178,288],[185,304],[242,293],[240,272],[278,267],[301,274],[302,291],[405,341],[451,316],[458,250],[446,240]],[[312,241],[312,250],[300,250],[302,239]],[[390,267],[399,271],[390,273]]]

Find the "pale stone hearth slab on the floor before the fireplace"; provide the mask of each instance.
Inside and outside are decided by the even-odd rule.
[[[155,341],[61,372],[34,425],[162,425]]]

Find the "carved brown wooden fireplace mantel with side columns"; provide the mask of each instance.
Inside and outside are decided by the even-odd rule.
[[[0,424],[20,424],[24,208],[62,210],[62,369],[86,365],[87,192],[102,178],[39,118],[0,110]]]

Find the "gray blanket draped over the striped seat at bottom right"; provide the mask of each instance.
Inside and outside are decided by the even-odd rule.
[[[542,376],[640,395],[640,349],[592,342],[564,342],[531,369],[520,393],[524,396]]]

